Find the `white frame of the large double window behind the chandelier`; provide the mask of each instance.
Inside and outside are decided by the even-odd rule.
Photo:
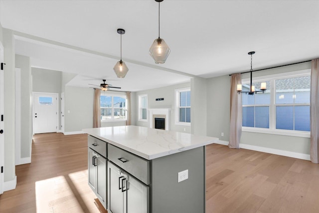
[[[277,104],[276,104],[276,86],[275,86],[276,80],[310,76],[310,73],[311,73],[311,69],[304,69],[304,70],[293,71],[293,72],[284,72],[284,73],[278,73],[273,75],[254,77],[252,83],[261,82],[261,81],[262,82],[270,81],[270,87],[271,87],[270,99],[271,100],[270,100],[270,108],[269,108],[269,128],[256,128],[256,127],[242,126],[242,131],[310,138],[310,131],[276,129]],[[242,79],[242,84],[245,84],[245,83],[250,83],[250,78]],[[245,94],[241,94],[241,95],[245,95]],[[294,105],[297,106],[298,104],[294,104]],[[253,106],[259,106],[259,105],[253,105]]]

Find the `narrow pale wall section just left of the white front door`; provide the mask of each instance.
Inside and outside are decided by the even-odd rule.
[[[21,70],[20,85],[20,157],[21,159],[31,160],[31,143],[32,143],[32,79],[30,58],[22,55],[15,55],[15,67]],[[20,162],[26,163],[26,162]]]

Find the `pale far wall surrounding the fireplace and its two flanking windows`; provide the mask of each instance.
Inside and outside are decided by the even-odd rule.
[[[134,111],[132,110],[134,112],[135,125],[149,127],[150,118],[148,118],[148,122],[138,120],[139,95],[147,94],[148,109],[152,109],[152,108],[170,108],[171,109],[170,110],[170,130],[177,131],[177,132],[190,133],[190,126],[175,125],[175,89],[181,89],[186,87],[190,87],[190,82],[136,92],[135,93],[136,97],[134,98],[135,109]],[[164,100],[156,101],[156,98],[164,98]]]

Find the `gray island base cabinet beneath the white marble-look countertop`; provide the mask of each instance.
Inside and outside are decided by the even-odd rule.
[[[205,147],[147,160],[92,136],[88,146],[88,182],[109,213],[205,212]]]

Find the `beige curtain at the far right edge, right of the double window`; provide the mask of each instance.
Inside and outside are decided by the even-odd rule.
[[[319,58],[311,62],[310,89],[310,159],[319,163]]]

